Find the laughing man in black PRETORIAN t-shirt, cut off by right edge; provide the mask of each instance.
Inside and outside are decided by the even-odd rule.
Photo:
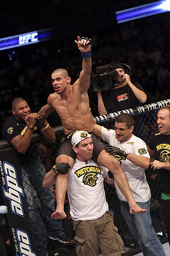
[[[157,117],[160,131],[153,134],[147,149],[151,156],[155,154],[150,165],[160,175],[162,213],[170,245],[170,106],[160,108]]]

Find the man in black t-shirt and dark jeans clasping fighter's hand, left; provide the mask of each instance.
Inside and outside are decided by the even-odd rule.
[[[12,144],[19,153],[23,188],[28,203],[29,218],[35,243],[39,255],[45,256],[47,255],[45,249],[47,236],[62,243],[71,242],[71,239],[67,238],[63,233],[62,221],[50,218],[55,211],[54,197],[49,188],[42,186],[46,171],[39,158],[38,150],[36,150],[34,143],[31,143],[32,134],[38,132],[44,135],[48,142],[55,143],[55,132],[46,120],[42,118],[41,122],[39,122],[35,118],[36,113],[30,113],[28,103],[23,98],[15,98],[12,101],[12,113],[2,127],[2,139]],[[39,211],[35,207],[31,185],[35,188],[40,199],[42,211],[49,226],[49,233],[47,233]]]

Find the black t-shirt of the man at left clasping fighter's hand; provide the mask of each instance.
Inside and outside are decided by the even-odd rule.
[[[18,121],[12,114],[7,118],[6,122],[3,124],[2,139],[5,139],[10,143],[10,141],[14,139],[16,136],[23,136],[25,134],[27,127],[28,126],[25,122]],[[42,128],[42,124],[39,121],[37,121],[36,125],[34,126],[33,133],[40,132]],[[26,153],[24,155],[18,153],[20,164],[33,164],[35,159],[37,159],[38,155],[38,150],[36,150],[34,143],[30,143],[30,147],[28,148],[28,150],[26,150]]]

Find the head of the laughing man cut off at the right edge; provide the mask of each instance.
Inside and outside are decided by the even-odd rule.
[[[161,134],[170,134],[170,116],[168,109],[161,109],[158,112],[157,124]]]

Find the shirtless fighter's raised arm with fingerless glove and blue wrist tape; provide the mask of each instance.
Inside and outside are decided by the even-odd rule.
[[[76,40],[75,40],[76,41]],[[81,92],[87,92],[91,83],[91,70],[92,70],[92,50],[91,50],[91,39],[80,38],[77,36],[77,46],[81,51],[83,61],[82,61],[82,71],[77,80]]]

